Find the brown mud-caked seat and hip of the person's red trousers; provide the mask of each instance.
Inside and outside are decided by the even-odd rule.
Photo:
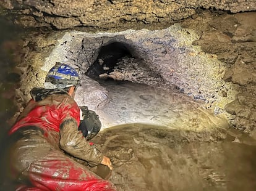
[[[28,181],[28,168],[33,161],[56,150],[39,128],[23,127],[21,131],[12,134],[10,139],[13,143],[9,148],[9,168],[12,178],[19,182]]]

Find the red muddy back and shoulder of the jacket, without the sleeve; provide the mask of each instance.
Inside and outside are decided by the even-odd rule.
[[[22,126],[40,126],[47,136],[49,129],[59,132],[59,124],[69,118],[74,118],[77,124],[80,123],[79,106],[69,95],[49,95],[40,102],[30,100],[9,134]]]

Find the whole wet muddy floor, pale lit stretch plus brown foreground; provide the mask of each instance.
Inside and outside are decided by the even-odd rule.
[[[113,161],[109,180],[119,190],[256,189],[255,142],[200,103],[145,84],[100,84],[108,100],[96,112],[114,127],[93,142]]]

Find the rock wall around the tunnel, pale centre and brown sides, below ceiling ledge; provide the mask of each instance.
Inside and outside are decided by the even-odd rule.
[[[234,15],[200,12],[197,17],[164,30],[127,30],[119,33],[55,31],[51,35],[36,36],[23,45],[32,52],[25,58],[27,63],[21,64],[25,73],[22,76],[23,85],[17,89],[17,100],[24,104],[30,99],[28,91],[43,84],[46,71],[55,62],[69,63],[83,76],[97,60],[100,48],[118,41],[126,44],[134,56],[133,60],[128,60],[130,64],[121,60],[117,68],[120,73],[127,74],[124,79],[163,89],[176,87],[179,93],[203,100],[204,107],[213,109],[215,115],[226,113],[234,127],[250,132],[255,128],[254,18],[255,12]],[[239,32],[240,28],[249,30]],[[248,35],[252,38],[245,41],[244,36]],[[242,40],[237,41],[236,38],[234,41],[234,36],[240,36]],[[140,81],[142,68],[134,70],[137,62],[145,64],[143,72],[146,75],[160,78],[143,78]],[[27,67],[27,64],[31,66]],[[248,74],[243,75],[244,71]],[[83,80],[82,88],[95,86],[95,91],[79,90],[79,104],[92,105],[92,109],[96,110],[101,103],[105,103],[108,92],[98,83],[88,85],[92,79],[85,77]],[[235,105],[226,106],[234,100],[237,100]]]

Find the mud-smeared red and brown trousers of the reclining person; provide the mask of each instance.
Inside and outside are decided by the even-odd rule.
[[[41,132],[27,131],[10,150],[11,172],[22,183],[17,190],[116,190],[111,182],[54,148]]]

